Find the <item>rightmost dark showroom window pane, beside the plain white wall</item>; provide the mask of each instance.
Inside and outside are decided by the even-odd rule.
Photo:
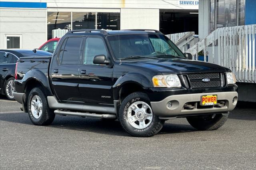
[[[98,12],[97,29],[120,30],[120,13]]]

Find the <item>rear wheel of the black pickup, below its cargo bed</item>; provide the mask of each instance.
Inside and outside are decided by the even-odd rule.
[[[35,87],[28,95],[28,115],[34,125],[50,125],[54,120],[54,111],[49,108],[40,87]]]

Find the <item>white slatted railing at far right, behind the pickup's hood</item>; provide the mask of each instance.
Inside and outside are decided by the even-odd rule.
[[[238,82],[256,83],[255,33],[256,24],[218,28],[186,52],[198,59],[203,50],[206,61],[209,51],[208,61],[231,69]]]

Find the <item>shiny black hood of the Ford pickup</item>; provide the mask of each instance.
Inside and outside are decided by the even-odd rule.
[[[152,59],[143,61],[131,61],[127,64],[136,65],[140,67],[155,69],[162,74],[174,73],[202,73],[202,72],[226,72],[229,69],[220,65],[207,63],[203,61],[195,61],[188,59]]]

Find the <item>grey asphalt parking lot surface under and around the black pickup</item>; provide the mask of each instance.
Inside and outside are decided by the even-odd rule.
[[[255,169],[256,110],[236,108],[214,131],[186,119],[159,134],[131,137],[118,121],[56,115],[34,126],[16,101],[0,96],[1,169]]]

